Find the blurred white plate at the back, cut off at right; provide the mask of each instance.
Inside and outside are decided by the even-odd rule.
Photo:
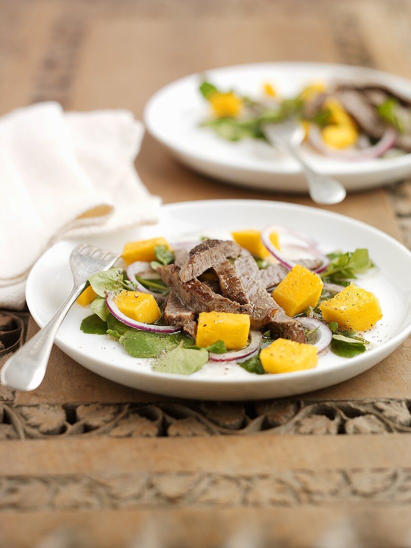
[[[206,175],[267,190],[306,192],[307,185],[293,158],[264,142],[225,141],[212,129],[199,127],[208,116],[208,105],[198,91],[204,75],[191,75],[159,90],[146,105],[144,120],[149,132],[181,162]],[[386,84],[411,97],[411,81],[371,68],[326,63],[278,62],[239,65],[207,71],[207,79],[222,89],[235,88],[260,96],[262,84],[272,82],[283,96],[293,96],[313,81],[354,79]],[[304,147],[303,147],[304,148]],[[411,154],[367,162],[343,162],[304,149],[319,173],[333,175],[347,190],[380,186],[411,174]]]

